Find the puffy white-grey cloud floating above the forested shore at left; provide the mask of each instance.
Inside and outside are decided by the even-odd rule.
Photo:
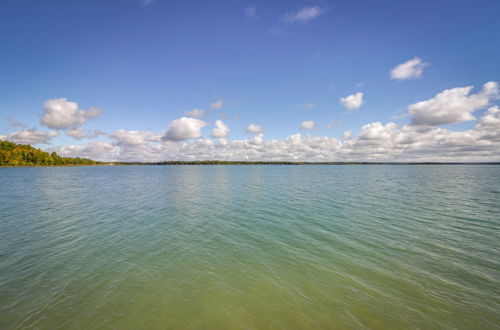
[[[78,103],[66,98],[51,99],[43,104],[44,114],[41,124],[53,129],[77,128],[88,119],[101,114],[101,109],[90,108],[87,111],[78,109]]]

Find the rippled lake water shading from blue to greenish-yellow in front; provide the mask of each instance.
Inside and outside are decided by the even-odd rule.
[[[498,329],[500,166],[0,168],[1,329]]]

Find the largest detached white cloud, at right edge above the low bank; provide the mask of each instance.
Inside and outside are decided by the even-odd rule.
[[[488,82],[476,94],[470,94],[474,87],[457,87],[442,91],[432,99],[408,106],[412,125],[447,125],[474,120],[472,113],[486,107],[498,97],[496,82]]]

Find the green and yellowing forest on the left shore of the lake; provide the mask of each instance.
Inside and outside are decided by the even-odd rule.
[[[49,165],[97,165],[86,158],[61,157],[49,154],[28,144],[17,144],[0,140],[0,166],[49,166]]]

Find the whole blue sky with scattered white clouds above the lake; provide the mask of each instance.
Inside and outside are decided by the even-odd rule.
[[[498,0],[2,0],[0,139],[103,161],[500,161]]]

